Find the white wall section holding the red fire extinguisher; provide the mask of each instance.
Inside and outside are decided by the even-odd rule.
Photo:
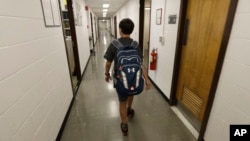
[[[156,24],[156,10],[162,8],[162,24]],[[151,29],[149,56],[153,48],[158,50],[157,68],[149,70],[149,76],[162,92],[170,98],[174,55],[176,49],[180,0],[154,0],[151,3]],[[168,24],[168,16],[176,14],[176,24]],[[165,43],[159,41],[163,36]]]

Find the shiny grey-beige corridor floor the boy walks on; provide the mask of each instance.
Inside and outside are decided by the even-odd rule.
[[[122,135],[117,95],[104,80],[103,55],[110,41],[102,30],[61,141],[195,141],[154,86],[134,98],[135,117],[128,122],[129,135]]]

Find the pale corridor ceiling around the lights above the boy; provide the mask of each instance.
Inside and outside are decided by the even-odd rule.
[[[85,0],[86,5],[97,17],[103,17],[103,4],[109,4],[106,17],[113,16],[128,0]]]

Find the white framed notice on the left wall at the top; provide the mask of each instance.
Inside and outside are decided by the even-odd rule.
[[[57,0],[41,0],[46,27],[60,26],[60,10]]]

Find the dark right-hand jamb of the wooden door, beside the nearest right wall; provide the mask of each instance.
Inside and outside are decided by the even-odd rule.
[[[201,124],[201,130],[199,133],[198,141],[204,141],[203,138],[204,138],[204,134],[206,132],[207,123],[208,123],[211,109],[213,106],[214,97],[216,94],[216,90],[217,90],[217,86],[218,86],[218,82],[219,82],[219,78],[220,78],[220,74],[221,74],[221,70],[222,70],[222,66],[223,66],[223,62],[224,62],[224,58],[225,58],[225,54],[226,54],[226,50],[227,50],[227,46],[228,46],[228,41],[230,39],[230,34],[231,34],[232,26],[233,26],[233,21],[234,21],[234,16],[235,16],[237,4],[238,4],[238,0],[231,0],[228,15],[227,15],[227,21],[226,21],[226,25],[225,25],[225,30],[224,30],[224,34],[223,34],[223,38],[222,38],[221,49],[219,52],[218,61],[216,64],[216,69],[215,69],[215,73],[213,76],[213,81],[212,81],[212,85],[211,85],[211,89],[210,89],[210,93],[209,93],[209,97],[208,97],[208,102],[207,102],[207,107],[206,107],[205,114],[204,114],[204,119],[203,119],[203,122]]]

